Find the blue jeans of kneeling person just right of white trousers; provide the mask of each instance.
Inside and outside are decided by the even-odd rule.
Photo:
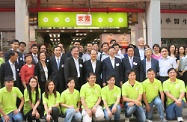
[[[113,105],[109,106],[110,111],[112,111],[112,107],[113,107]],[[117,109],[116,109],[116,113],[114,113],[114,120],[115,120],[116,122],[119,122],[119,121],[120,121],[120,114],[121,114],[121,106],[118,105],[118,106],[117,106]],[[104,116],[105,116],[105,119],[106,119],[106,120],[110,120],[110,119],[111,119],[111,118],[108,116],[108,112],[107,112],[106,109],[104,109]]]

